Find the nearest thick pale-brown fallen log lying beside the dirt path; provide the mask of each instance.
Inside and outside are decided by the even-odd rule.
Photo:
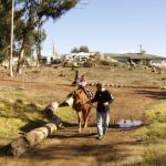
[[[10,143],[8,145],[7,153],[13,157],[20,156],[31,147],[40,144],[54,131],[56,131],[56,125],[52,123],[46,124],[43,127],[35,128]]]

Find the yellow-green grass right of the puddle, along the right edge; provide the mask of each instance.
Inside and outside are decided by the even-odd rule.
[[[166,165],[166,102],[162,101],[146,110],[152,122],[144,131],[143,163],[147,166]]]

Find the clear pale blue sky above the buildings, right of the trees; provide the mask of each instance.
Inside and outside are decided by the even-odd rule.
[[[81,0],[44,24],[43,53],[86,45],[102,53],[139,52],[166,56],[166,0]]]

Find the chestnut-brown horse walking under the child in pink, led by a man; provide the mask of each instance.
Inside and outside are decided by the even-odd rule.
[[[83,117],[83,128],[87,127],[89,115],[92,108],[92,104],[90,100],[92,98],[92,93],[85,90],[84,87],[80,87],[68,95],[66,101],[64,101],[62,105],[72,106],[72,108],[76,112],[77,123],[79,123],[79,133],[82,132],[82,117]]]

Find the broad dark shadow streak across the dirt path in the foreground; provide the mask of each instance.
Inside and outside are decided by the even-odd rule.
[[[62,137],[59,137],[62,138]],[[93,138],[94,139],[94,138]],[[76,142],[76,139],[75,139]],[[31,159],[54,159],[58,162],[61,160],[77,160],[80,158],[87,159],[89,157],[95,158],[97,163],[110,163],[110,162],[118,162],[120,159],[126,158],[129,156],[129,152],[126,152],[125,148],[121,147],[120,145],[136,145],[134,142],[120,142],[115,144],[110,144],[107,142],[98,143],[96,141],[91,141],[90,143],[81,143],[81,144],[68,144],[65,143],[65,138],[61,144],[51,145],[49,147],[42,149],[33,149],[31,153],[28,153],[23,158],[31,158]],[[76,159],[77,158],[77,159]]]

